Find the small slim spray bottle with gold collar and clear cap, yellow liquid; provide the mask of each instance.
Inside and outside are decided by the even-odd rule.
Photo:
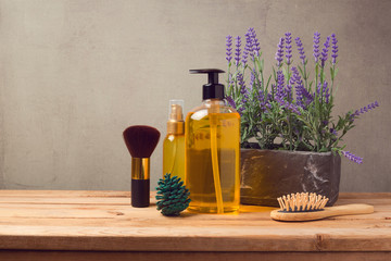
[[[163,141],[163,177],[166,173],[185,181],[184,100],[169,100],[167,135]]]

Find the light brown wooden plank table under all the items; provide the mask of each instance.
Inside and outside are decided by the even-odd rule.
[[[123,191],[0,191],[0,260],[391,260],[391,194],[341,194],[375,213],[285,223],[135,209]]]

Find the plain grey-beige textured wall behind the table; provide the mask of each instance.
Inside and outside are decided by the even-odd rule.
[[[125,127],[165,136],[168,100],[201,101],[226,69],[225,36],[255,27],[266,64],[285,32],[336,33],[336,112],[378,100],[345,138],[364,164],[343,160],[344,191],[391,191],[391,1],[0,1],[0,188],[121,189],[130,184]],[[323,38],[324,40],[325,38]],[[152,184],[162,172],[162,142]],[[154,187],[152,185],[152,187]]]

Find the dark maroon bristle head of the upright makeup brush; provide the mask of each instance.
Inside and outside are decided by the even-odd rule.
[[[150,158],[156,148],[160,132],[151,126],[135,125],[124,130],[124,139],[133,158]]]

